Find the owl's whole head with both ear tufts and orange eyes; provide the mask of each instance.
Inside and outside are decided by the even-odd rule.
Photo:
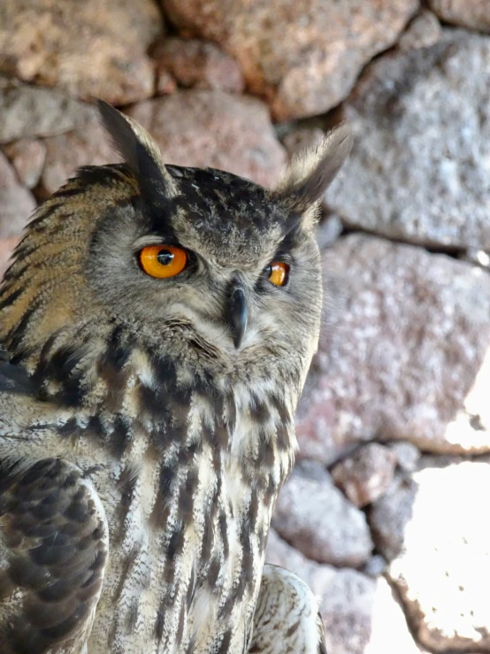
[[[317,207],[348,130],[294,158],[271,190],[165,165],[142,127],[99,109],[124,163],[80,169],[27,227],[0,291],[11,358],[35,373],[53,358],[78,369],[146,351],[210,374],[253,379],[282,362],[303,375],[322,304]]]

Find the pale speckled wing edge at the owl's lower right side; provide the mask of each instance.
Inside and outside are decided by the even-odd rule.
[[[249,654],[326,654],[323,620],[308,586],[286,568],[265,564]]]

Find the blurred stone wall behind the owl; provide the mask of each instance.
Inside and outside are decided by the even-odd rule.
[[[329,654],[490,652],[490,0],[0,0],[0,274],[34,207],[114,161],[272,186],[348,120],[325,196],[325,324],[268,558]]]

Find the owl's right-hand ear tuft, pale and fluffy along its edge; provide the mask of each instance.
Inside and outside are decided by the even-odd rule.
[[[293,156],[273,194],[299,212],[315,206],[340,171],[352,143],[347,125],[333,129],[324,141]]]

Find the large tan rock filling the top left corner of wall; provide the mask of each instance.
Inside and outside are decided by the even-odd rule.
[[[162,30],[153,0],[4,0],[0,68],[73,96],[126,104],[153,94],[146,50]]]

